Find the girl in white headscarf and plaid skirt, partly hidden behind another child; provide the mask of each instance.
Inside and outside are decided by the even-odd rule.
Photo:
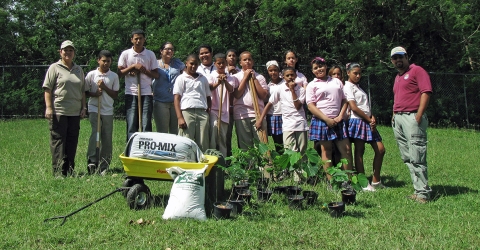
[[[285,81],[280,78],[280,66],[277,61],[268,61],[266,66],[268,75],[270,76],[268,87],[270,93],[273,93],[274,89],[282,85]],[[278,153],[283,149],[282,123],[282,109],[280,103],[277,103],[273,106],[273,110],[269,109],[267,114],[267,134],[272,137],[273,142],[275,143],[275,151]]]

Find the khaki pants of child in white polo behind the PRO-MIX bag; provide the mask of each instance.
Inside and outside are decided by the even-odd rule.
[[[186,129],[178,129],[178,135],[190,138],[197,143],[202,152],[210,146],[210,126],[208,113],[205,109],[182,110],[183,119],[187,123]]]

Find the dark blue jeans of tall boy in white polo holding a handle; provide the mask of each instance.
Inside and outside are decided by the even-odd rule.
[[[128,139],[138,132],[138,97],[134,95],[125,95],[125,110],[127,118],[127,142]],[[152,131],[152,109],[153,96],[142,95],[142,132]]]

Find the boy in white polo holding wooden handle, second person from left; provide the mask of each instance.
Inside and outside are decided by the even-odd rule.
[[[102,50],[97,57],[98,68],[88,72],[85,77],[86,96],[90,97],[88,101],[89,120],[92,125],[92,133],[88,143],[87,162],[88,172],[102,173],[108,169],[112,160],[112,133],[113,133],[113,103],[118,97],[120,83],[118,75],[110,70],[112,64],[112,53],[108,50]],[[100,102],[99,102],[99,99]],[[100,104],[100,107],[98,106]],[[100,121],[98,119],[100,112]],[[96,155],[96,132],[97,124],[100,123],[100,155],[97,162]]]

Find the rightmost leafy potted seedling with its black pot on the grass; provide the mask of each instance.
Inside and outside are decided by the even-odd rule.
[[[368,185],[368,179],[363,173],[357,174],[353,170],[342,169],[347,165],[346,159],[341,159],[336,166],[327,168],[327,173],[331,175],[330,185],[334,191],[340,191],[342,202],[331,202],[328,204],[330,215],[340,217],[345,212],[345,204],[353,204],[356,201],[356,191]]]

